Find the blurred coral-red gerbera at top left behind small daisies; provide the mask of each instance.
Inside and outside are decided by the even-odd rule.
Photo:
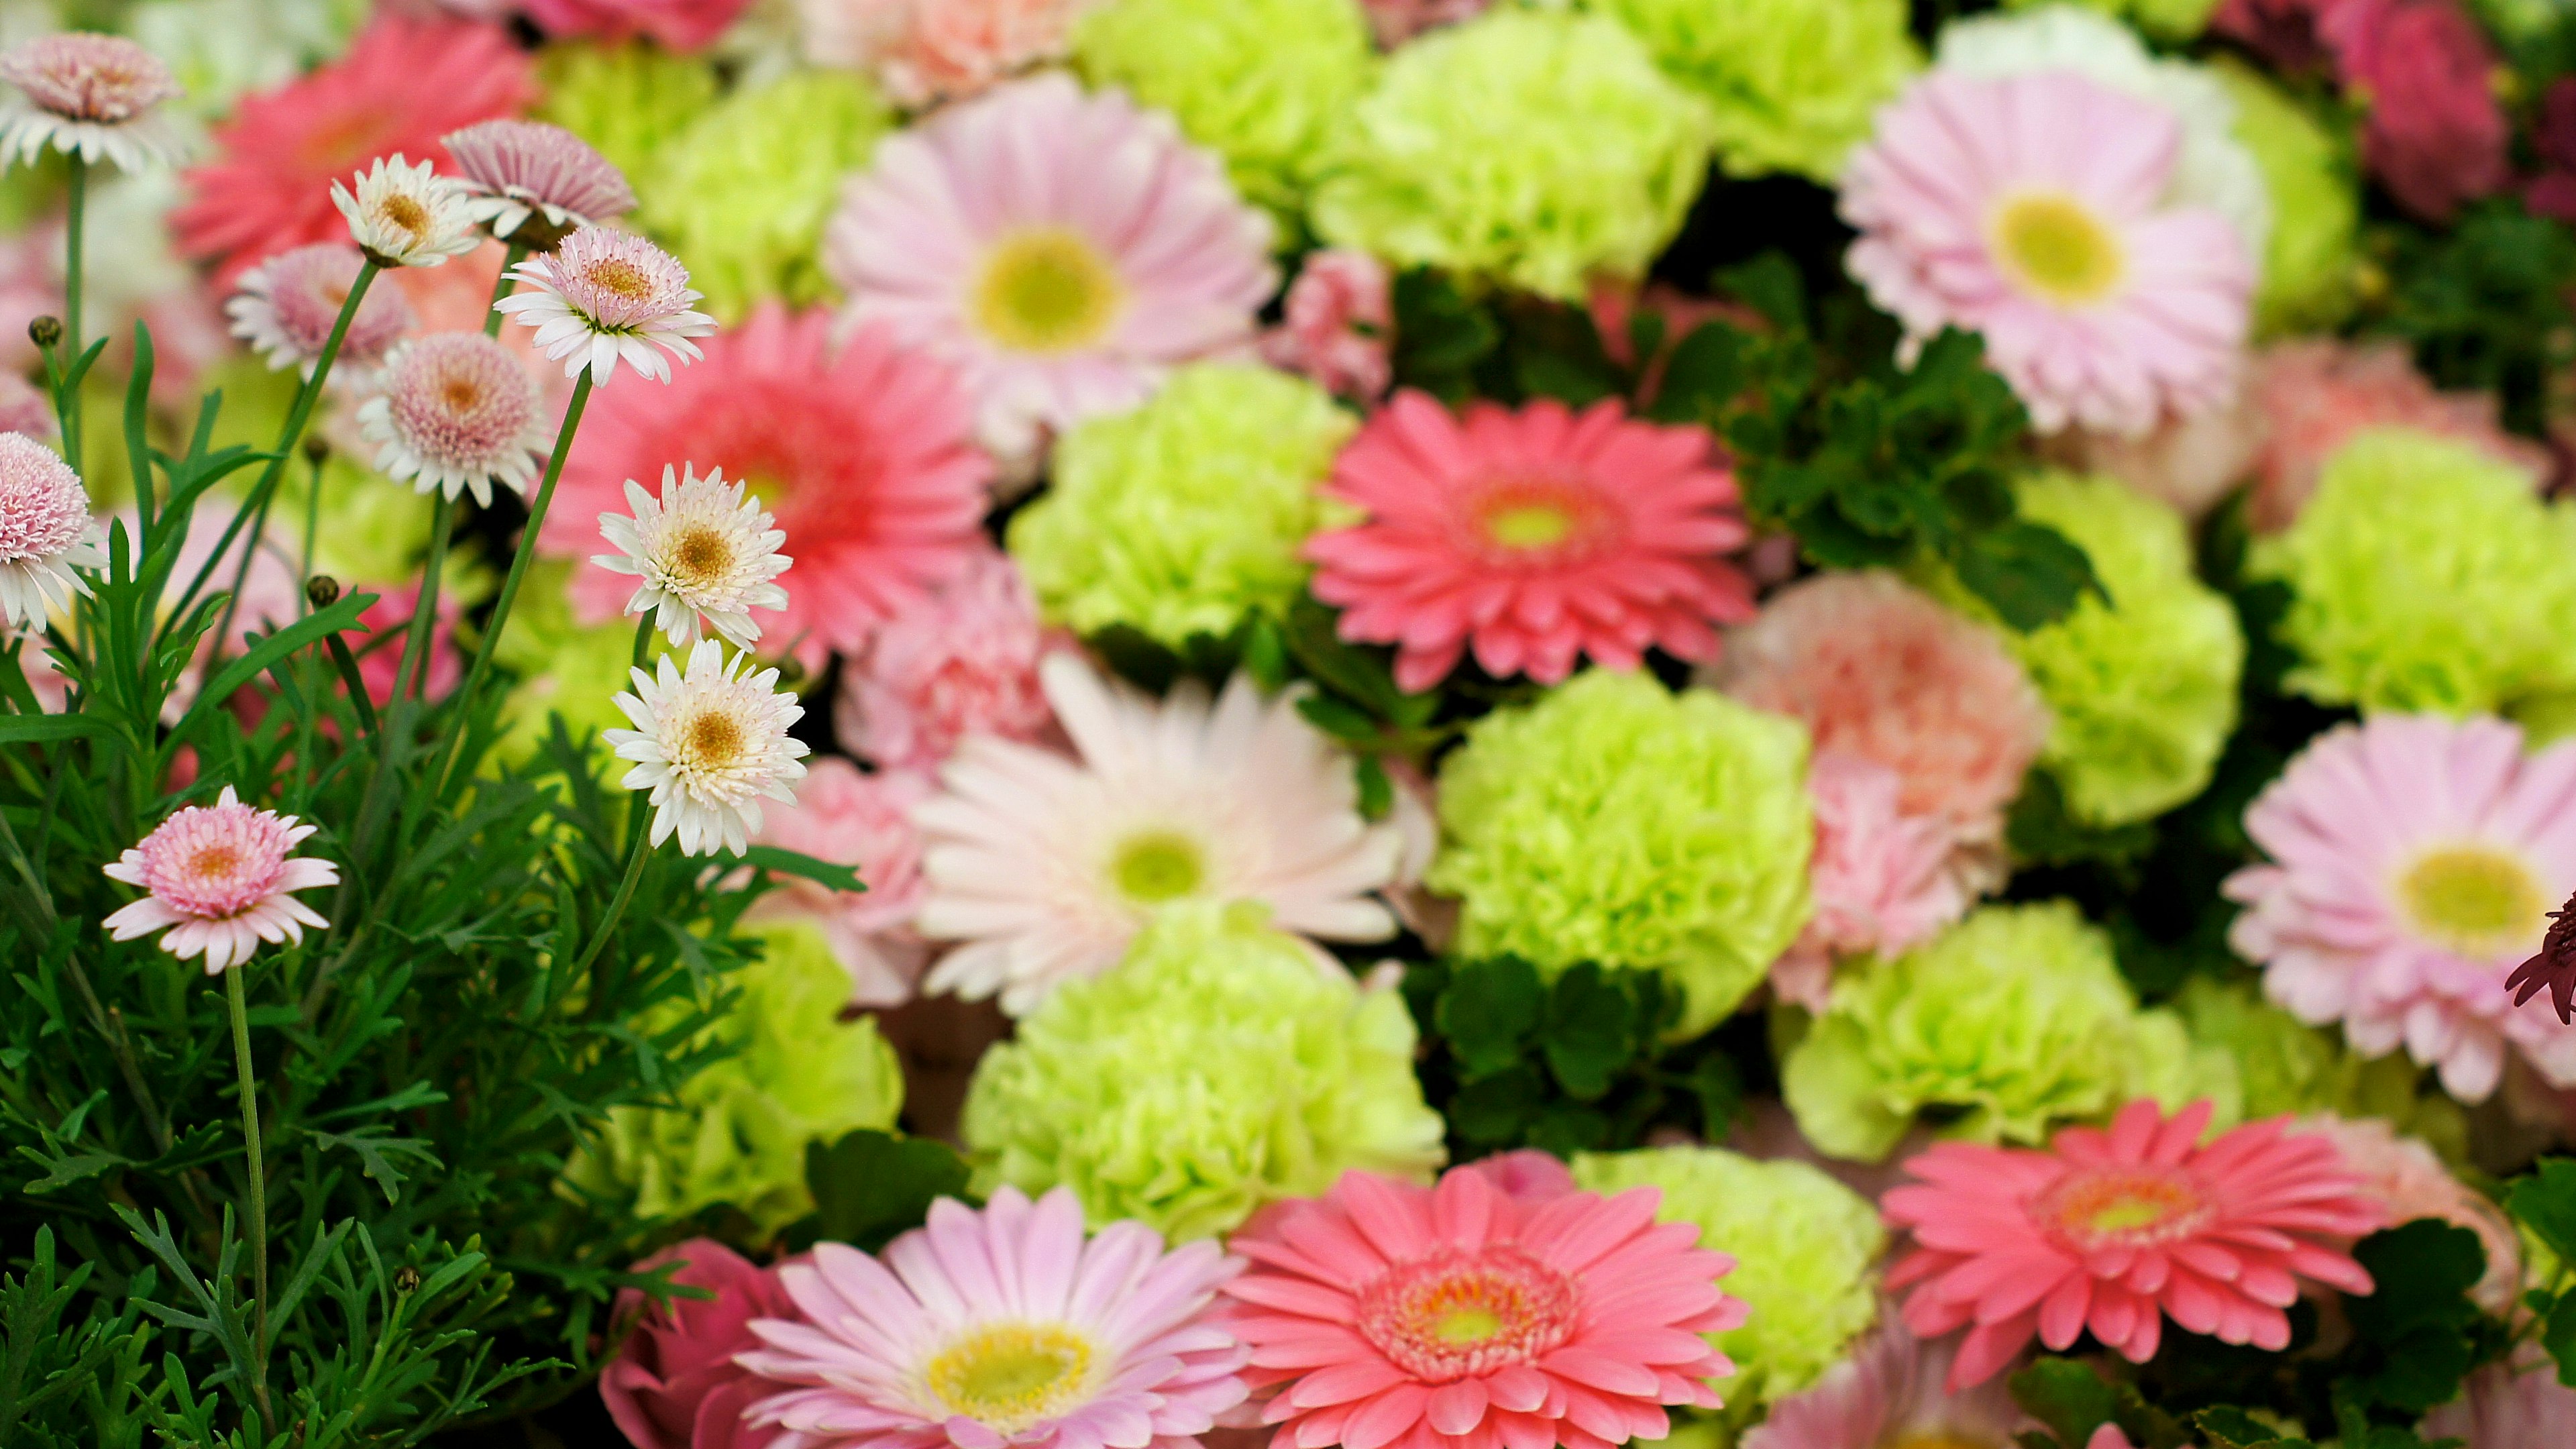
[[[448,168],[440,137],[536,101],[536,70],[500,26],[379,15],[348,54],[247,95],[214,129],[216,160],[191,170],[170,211],[178,250],[219,258],[216,286],[265,255],[345,242],[330,183],[402,152]]]

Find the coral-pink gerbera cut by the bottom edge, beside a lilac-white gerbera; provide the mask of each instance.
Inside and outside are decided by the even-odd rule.
[[[1667,1405],[1718,1408],[1736,1366],[1703,1333],[1739,1328],[1736,1261],[1656,1189],[1512,1196],[1479,1168],[1419,1189],[1342,1173],[1229,1243],[1229,1328],[1273,1449],[1613,1449],[1662,1439]]]

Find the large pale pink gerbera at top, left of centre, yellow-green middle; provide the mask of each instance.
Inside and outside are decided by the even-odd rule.
[[[1018,464],[1079,418],[1144,402],[1172,364],[1252,343],[1278,284],[1270,219],[1216,155],[1066,75],[878,142],[824,266],[853,325],[961,371],[984,446]]]

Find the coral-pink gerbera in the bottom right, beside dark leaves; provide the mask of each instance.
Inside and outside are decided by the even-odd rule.
[[[1911,1289],[1914,1333],[1968,1330],[1953,1390],[1991,1379],[2032,1336],[2063,1351],[2087,1328],[2143,1364],[2166,1315],[2277,1354],[2298,1279],[2370,1292],[2329,1243],[2372,1232],[2383,1212],[2334,1142],[2272,1119],[2202,1147],[2208,1127],[2208,1101],[2174,1116],[2133,1101],[2110,1129],[2069,1127],[2045,1152],[1940,1142],[1906,1160],[1922,1183],[1880,1207],[1914,1250],[1888,1289]]]

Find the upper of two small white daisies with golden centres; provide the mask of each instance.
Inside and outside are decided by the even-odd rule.
[[[770,583],[788,570],[778,552],[788,536],[770,529],[757,498],[744,498],[742,482],[724,482],[724,469],[698,477],[662,467],[662,500],[626,480],[623,513],[600,513],[600,536],[618,547],[592,554],[608,572],[636,575],[644,583],[626,601],[626,614],[654,614],[654,627],[672,645],[693,645],[703,629],[721,634],[737,650],[760,639],[752,608],[786,608],[788,590]]]

